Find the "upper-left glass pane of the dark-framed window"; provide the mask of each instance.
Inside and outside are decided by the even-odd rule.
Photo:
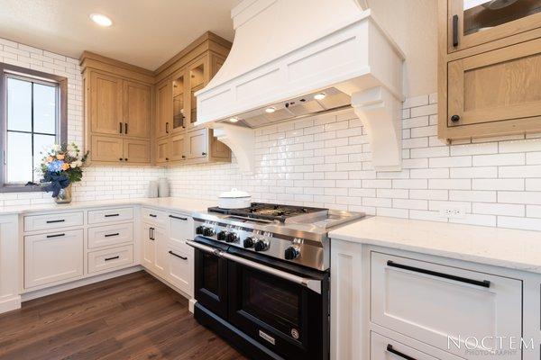
[[[7,130],[32,131],[32,83],[7,78]]]

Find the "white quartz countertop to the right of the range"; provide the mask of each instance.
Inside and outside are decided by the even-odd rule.
[[[541,274],[541,231],[374,216],[329,237]]]

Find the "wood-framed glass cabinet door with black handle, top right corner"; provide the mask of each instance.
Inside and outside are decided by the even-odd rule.
[[[541,0],[448,0],[448,20],[453,52],[541,27]]]

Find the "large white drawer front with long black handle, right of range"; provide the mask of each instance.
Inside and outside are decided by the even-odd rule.
[[[464,357],[496,359],[509,350],[506,359],[520,359],[497,338],[521,336],[522,282],[372,251],[371,321],[456,356],[477,338],[479,356]]]

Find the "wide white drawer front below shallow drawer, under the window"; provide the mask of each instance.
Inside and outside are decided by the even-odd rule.
[[[24,287],[59,284],[83,275],[83,230],[24,237]]]

